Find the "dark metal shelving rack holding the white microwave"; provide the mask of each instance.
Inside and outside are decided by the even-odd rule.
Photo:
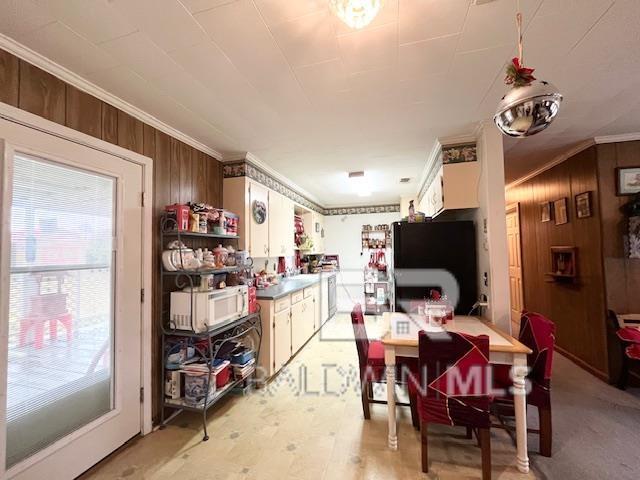
[[[167,237],[177,238],[182,245],[182,238],[192,237],[192,238],[208,238],[208,239],[226,239],[233,240],[238,239],[235,235],[218,235],[213,233],[195,233],[195,232],[185,232],[177,230],[177,223],[174,219],[164,216],[160,222],[160,238],[161,244],[164,246]],[[180,261],[182,262],[182,252],[180,252]],[[219,275],[226,274],[233,271],[238,271],[243,269],[242,266],[236,267],[226,267],[220,269],[201,269],[201,270],[186,270],[184,269],[184,265],[181,265],[183,268],[177,271],[167,271],[161,265],[160,268],[160,291],[162,292],[162,308],[161,308],[161,321],[162,321],[162,372],[163,372],[163,381],[164,375],[167,371],[167,360],[168,356],[171,354],[172,350],[167,351],[167,341],[169,338],[173,337],[173,348],[176,346],[185,347],[185,351],[188,351],[189,348],[194,349],[194,356],[199,357],[201,360],[207,363],[209,368],[209,373],[207,375],[207,379],[205,382],[205,392],[209,392],[211,376],[213,373],[213,363],[218,358],[222,347],[232,341],[239,340],[241,338],[246,337],[247,335],[255,335],[257,337],[257,348],[255,349],[255,365],[258,365],[258,360],[260,357],[260,346],[262,343],[262,323],[260,321],[260,313],[251,313],[243,318],[239,318],[237,320],[233,320],[231,322],[216,325],[215,327],[204,331],[198,332],[194,328],[193,325],[193,301],[190,302],[191,305],[191,330],[179,330],[174,328],[171,325],[169,319],[169,311],[166,308],[168,305],[167,296],[171,294],[170,291],[167,290],[166,279],[171,278],[173,280],[173,287],[177,289],[184,289],[185,287],[189,287],[193,292],[194,286],[194,278],[199,277],[200,275]],[[205,340],[206,348],[202,348],[198,346],[201,345],[201,342]],[[179,351],[179,350],[178,350]],[[231,368],[231,367],[228,367]],[[224,398],[228,393],[233,392],[237,387],[241,387],[244,385],[244,390],[251,386],[250,382],[252,378],[255,378],[256,371],[254,371],[251,375],[242,378],[231,380],[224,387],[216,390],[213,394],[207,394],[205,399],[198,403],[190,403],[186,399],[170,399],[166,398],[164,388],[162,388],[160,405],[161,408],[161,426],[160,428],[164,428],[167,423],[169,423],[173,418],[179,415],[182,411],[192,411],[202,413],[202,427],[204,430],[203,441],[207,441],[209,439],[209,435],[207,432],[207,411],[213,405],[215,405],[218,401]],[[169,415],[165,415],[166,409],[172,409],[173,412]]]

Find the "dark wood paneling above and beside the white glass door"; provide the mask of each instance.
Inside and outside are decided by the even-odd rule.
[[[164,206],[202,201],[222,206],[222,164],[125,112],[0,50],[0,101],[153,159],[154,234]],[[154,237],[154,417],[162,388],[158,292],[162,245]]]

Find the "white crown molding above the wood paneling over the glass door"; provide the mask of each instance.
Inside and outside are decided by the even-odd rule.
[[[90,81],[84,79],[77,73],[74,73],[71,70],[63,67],[62,65],[57,64],[56,62],[48,59],[38,52],[31,50],[29,47],[26,47],[21,43],[16,42],[11,37],[7,37],[2,33],[0,33],[0,48],[6,50],[7,52],[15,55],[18,58],[21,58],[25,62],[29,62],[32,65],[41,68],[45,72],[50,73],[63,82],[66,82],[69,85],[72,85],[73,87],[76,87],[77,89],[82,90],[83,92],[86,92],[90,95],[93,95],[103,102],[108,103],[109,105],[114,106],[125,113],[128,113],[132,117],[137,118],[147,125],[150,125],[153,128],[156,128],[157,130],[160,130],[167,135],[170,135],[175,139],[180,140],[181,142],[186,143],[187,145],[190,145],[203,153],[206,153],[207,155],[211,155],[216,160],[222,160],[222,154],[217,150],[195,140],[189,135],[173,128],[172,126],[157,119],[153,115],[145,112],[144,110],[141,110],[138,107],[135,107],[134,105],[131,105],[130,103],[122,100],[120,97],[107,92],[94,83],[91,83]]]

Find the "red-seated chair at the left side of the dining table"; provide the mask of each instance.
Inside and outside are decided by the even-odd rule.
[[[362,410],[364,418],[369,420],[371,412],[369,404],[381,403],[386,404],[384,400],[375,400],[373,398],[373,384],[386,382],[385,363],[384,363],[384,345],[379,340],[369,341],[367,329],[364,325],[364,315],[362,314],[362,306],[357,303],[351,312],[351,324],[353,326],[353,334],[356,339],[356,348],[358,350],[358,360],[360,364],[360,383],[362,387]],[[414,371],[417,368],[417,359],[397,357],[396,367],[400,370],[401,375],[396,374],[396,379],[402,381],[402,373]],[[404,371],[404,372],[403,372]],[[411,406],[412,421],[417,422],[414,415],[415,409],[407,403],[396,402],[396,405]]]

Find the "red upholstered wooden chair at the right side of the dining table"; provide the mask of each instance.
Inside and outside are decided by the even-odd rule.
[[[540,435],[540,454],[551,456],[552,422],[551,422],[551,370],[553,351],[555,348],[555,324],[544,315],[534,312],[523,312],[520,319],[520,335],[518,339],[531,349],[527,356],[529,374],[527,379],[531,391],[527,395],[527,404],[538,408],[539,430],[529,430]],[[498,389],[509,392],[513,382],[509,365],[493,366],[494,385]],[[513,397],[507,394],[496,397],[494,404],[498,413],[514,416]]]

